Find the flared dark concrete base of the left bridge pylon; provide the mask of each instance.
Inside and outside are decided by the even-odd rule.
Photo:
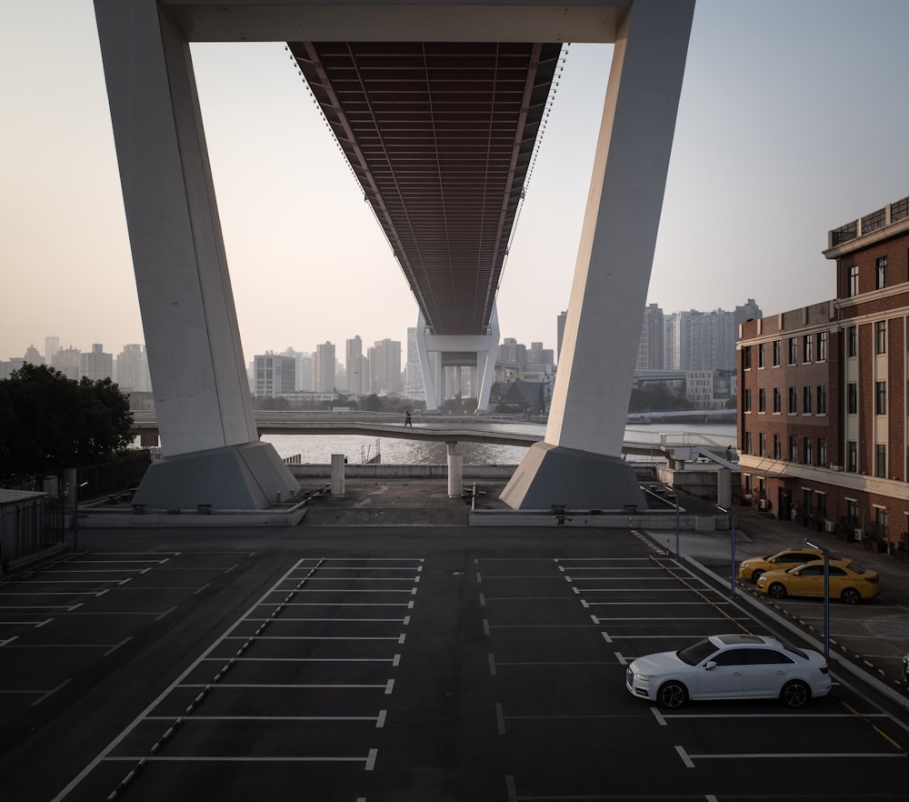
[[[271,443],[245,443],[152,463],[133,497],[152,509],[267,509],[289,502],[300,483]]]

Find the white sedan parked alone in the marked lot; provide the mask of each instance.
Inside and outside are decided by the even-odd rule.
[[[663,707],[687,699],[780,699],[802,707],[830,690],[824,656],[762,635],[712,635],[677,652],[638,657],[625,672],[635,697]]]

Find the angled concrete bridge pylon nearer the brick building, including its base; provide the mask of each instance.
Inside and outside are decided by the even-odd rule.
[[[638,0],[619,25],[549,422],[504,488],[514,509],[644,506],[622,443],[693,15]]]

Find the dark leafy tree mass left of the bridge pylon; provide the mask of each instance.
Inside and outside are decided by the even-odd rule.
[[[124,451],[132,425],[129,397],[110,379],[26,363],[0,380],[0,475],[90,465]]]

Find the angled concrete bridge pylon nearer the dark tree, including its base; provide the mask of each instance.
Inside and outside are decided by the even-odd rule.
[[[300,486],[255,428],[189,44],[155,2],[95,17],[164,453],[134,502],[266,508]]]

